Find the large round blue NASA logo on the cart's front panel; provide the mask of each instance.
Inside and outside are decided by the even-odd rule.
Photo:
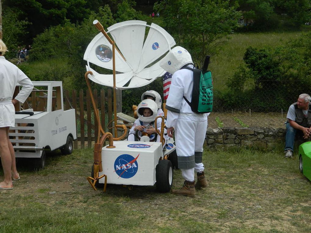
[[[118,178],[128,179],[136,175],[138,171],[137,158],[129,154],[121,154],[114,161],[114,171],[119,176]]]

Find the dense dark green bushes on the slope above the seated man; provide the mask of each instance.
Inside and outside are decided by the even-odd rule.
[[[244,66],[227,81],[222,105],[251,106],[255,111],[286,109],[293,97],[309,92],[304,88],[311,85],[310,41],[311,32],[276,48],[247,48]],[[247,80],[253,86],[245,88]]]

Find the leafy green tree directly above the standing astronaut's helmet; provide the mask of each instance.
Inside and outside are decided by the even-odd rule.
[[[216,54],[230,38],[240,17],[237,6],[224,0],[167,0],[154,8],[176,43],[187,48],[200,67],[206,55]]]

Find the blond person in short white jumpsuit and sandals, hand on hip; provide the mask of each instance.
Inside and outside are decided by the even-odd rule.
[[[5,59],[3,55],[6,51],[7,47],[0,39],[0,156],[4,173],[0,190],[12,189],[12,179],[20,179],[16,170],[14,148],[9,140],[9,128],[15,126],[14,104],[24,103],[34,87],[30,79],[17,66]],[[23,88],[12,99],[17,83]]]

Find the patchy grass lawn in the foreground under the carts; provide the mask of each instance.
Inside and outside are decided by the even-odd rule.
[[[311,183],[299,172],[297,155],[285,159],[282,151],[205,151],[210,185],[195,198],[153,186],[94,191],[86,180],[91,149],[49,154],[38,172],[27,162],[18,164],[14,189],[0,191],[1,232],[311,231]],[[182,185],[175,170],[173,188]]]

